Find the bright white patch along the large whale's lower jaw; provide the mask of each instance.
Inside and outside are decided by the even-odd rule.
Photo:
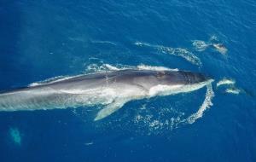
[[[156,85],[148,91],[148,96],[152,97],[155,95],[175,95],[179,93],[187,93],[194,90],[199,90],[207,84],[211,84],[213,79],[201,82],[199,84],[177,84],[177,85]]]

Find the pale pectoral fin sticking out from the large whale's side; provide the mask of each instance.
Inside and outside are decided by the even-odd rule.
[[[108,115],[111,115],[112,113],[119,110],[119,108],[123,107],[125,105],[126,101],[113,101],[110,103],[107,107],[103,108],[99,113],[97,113],[96,118],[94,121],[104,119],[108,117]]]

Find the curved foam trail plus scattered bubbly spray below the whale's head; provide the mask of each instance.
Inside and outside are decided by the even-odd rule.
[[[142,113],[145,113],[148,110],[146,105],[143,104],[133,122],[138,125],[140,130],[147,130],[147,135],[161,134],[166,130],[174,130],[185,124],[194,124],[195,121],[202,118],[205,111],[212,106],[213,97],[214,92],[212,90],[212,84],[209,82],[207,84],[207,93],[203,103],[197,112],[190,114],[189,117],[173,107],[159,107],[158,109],[160,109],[160,112],[158,115],[155,115],[155,113],[147,113],[143,115]],[[168,116],[172,116],[172,118],[166,119]]]

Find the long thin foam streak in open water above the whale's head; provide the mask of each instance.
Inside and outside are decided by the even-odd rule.
[[[187,49],[182,49],[182,48],[172,48],[172,47],[166,47],[162,45],[154,45],[150,43],[143,43],[143,42],[136,42],[134,43],[137,46],[143,47],[150,47],[153,49],[157,49],[162,53],[169,54],[169,55],[176,55],[178,57],[183,58],[186,61],[189,61],[190,63],[201,67],[202,63],[200,58],[198,58],[196,55],[194,55],[192,52],[189,52]]]

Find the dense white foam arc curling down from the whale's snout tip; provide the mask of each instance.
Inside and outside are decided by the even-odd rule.
[[[197,119],[200,119],[203,116],[203,113],[212,106],[213,96],[214,92],[212,90],[212,84],[207,84],[206,98],[203,101],[201,107],[198,109],[196,113],[191,114],[188,119],[183,120],[183,122],[193,124]]]

